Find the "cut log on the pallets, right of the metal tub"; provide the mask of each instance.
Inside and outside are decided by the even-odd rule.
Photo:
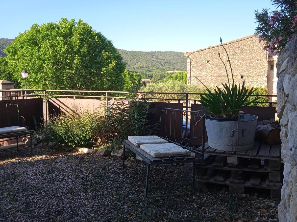
[[[258,125],[256,127],[255,138],[270,145],[280,144],[281,139],[279,133],[280,130],[274,128],[271,123],[268,123],[267,125]]]

